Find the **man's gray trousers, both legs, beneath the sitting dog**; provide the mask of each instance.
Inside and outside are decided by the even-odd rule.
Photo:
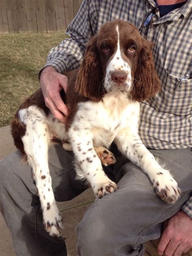
[[[106,174],[118,182],[108,194],[85,212],[77,226],[77,252],[81,256],[143,255],[143,243],[161,235],[162,223],[188,200],[192,190],[190,149],[150,150],[166,163],[182,190],[174,205],[162,201],[148,176],[123,156]],[[75,179],[73,154],[60,146],[49,149],[49,168],[56,201],[67,201],[87,187]],[[18,256],[66,256],[62,237],[50,237],[42,223],[40,201],[30,167],[19,151],[0,164],[0,204]]]

